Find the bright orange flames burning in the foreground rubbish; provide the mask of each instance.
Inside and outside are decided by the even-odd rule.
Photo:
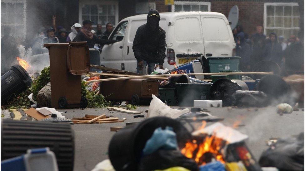
[[[202,122],[200,129],[206,126],[206,122]],[[221,163],[225,163],[221,150],[226,145],[226,141],[217,138],[215,133],[212,136],[206,135],[201,140],[192,140],[187,142],[181,153],[187,158],[194,159],[198,165],[205,165],[215,159]]]

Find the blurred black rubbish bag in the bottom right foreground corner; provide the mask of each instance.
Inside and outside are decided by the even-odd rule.
[[[259,164],[279,170],[304,170],[304,132],[297,137],[278,139],[262,153]]]

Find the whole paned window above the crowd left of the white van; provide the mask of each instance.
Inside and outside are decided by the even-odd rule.
[[[118,23],[118,1],[79,1],[79,23],[93,21],[93,27],[102,24],[105,29],[108,22],[115,26]]]

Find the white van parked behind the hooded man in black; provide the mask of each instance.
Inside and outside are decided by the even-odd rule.
[[[164,68],[173,69],[193,59],[232,56],[235,43],[227,18],[218,12],[164,12],[159,25],[166,31]],[[147,14],[123,19],[109,39],[119,40],[104,45],[100,55],[106,67],[136,72],[133,39],[139,26],[147,22]]]

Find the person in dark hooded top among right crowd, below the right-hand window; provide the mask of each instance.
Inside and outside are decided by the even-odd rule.
[[[275,33],[269,34],[270,42],[266,44],[264,50],[264,59],[271,60],[278,65],[281,65],[283,53],[282,46],[277,43],[277,35]]]

